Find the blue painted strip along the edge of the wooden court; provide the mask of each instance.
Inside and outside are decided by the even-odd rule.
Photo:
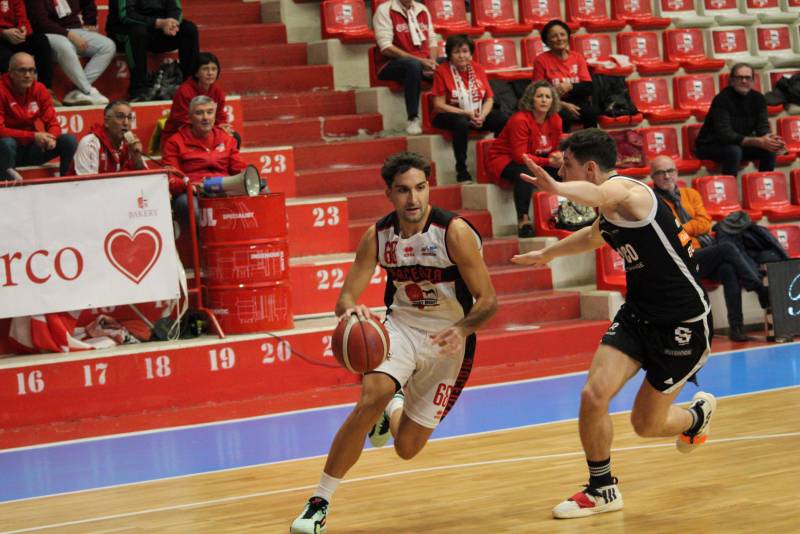
[[[641,375],[641,373],[640,373]],[[717,396],[800,385],[800,344],[712,356]],[[574,419],[585,373],[465,390],[434,438]],[[641,376],[614,399],[630,410]],[[679,396],[697,391],[689,384]],[[351,405],[0,452],[0,502],[324,455]],[[309,481],[311,482],[311,481]]]

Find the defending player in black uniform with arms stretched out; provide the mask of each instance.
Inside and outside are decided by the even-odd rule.
[[[591,227],[512,261],[546,264],[607,242],[624,259],[627,282],[625,304],[601,340],[581,393],[578,422],[589,483],[553,509],[554,517],[567,519],[622,509],[622,494],[611,476],[608,405],[639,369],[646,375],[631,422],[642,437],[678,436],[678,450],[689,452],[705,442],[716,400],[698,392],[688,409],[673,404],[708,358],[713,330],[689,235],[650,187],[616,174],[616,146],[607,133],[575,132],[561,149],[564,182],[529,158],[532,176],[522,177],[542,191],[598,208],[600,216]]]

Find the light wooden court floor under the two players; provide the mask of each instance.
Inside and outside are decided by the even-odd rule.
[[[570,421],[434,441],[412,461],[391,448],[366,452],[334,496],[328,531],[800,532],[800,388],[723,398],[718,408],[710,441],[690,455],[638,438],[627,414],[614,416],[621,512],[551,519],[587,476]],[[0,530],[286,533],[323,462],[7,503]]]

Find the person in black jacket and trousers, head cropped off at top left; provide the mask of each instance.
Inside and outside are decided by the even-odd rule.
[[[177,49],[185,80],[200,51],[197,26],[183,18],[178,0],[110,0],[106,33],[128,58],[132,102],[147,93],[147,52]]]

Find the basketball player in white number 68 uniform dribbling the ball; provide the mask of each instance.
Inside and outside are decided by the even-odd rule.
[[[368,432],[375,446],[391,432],[403,459],[422,450],[469,376],[475,331],[497,308],[478,232],[428,203],[430,170],[424,158],[408,152],[390,156],[381,169],[394,211],[361,238],[336,314],[340,320],[372,315],[357,301],[380,263],[388,275],[391,349],[364,375],[361,398],[333,439],[319,486],[292,523],[293,534],[326,532],[331,496],[361,456]]]

